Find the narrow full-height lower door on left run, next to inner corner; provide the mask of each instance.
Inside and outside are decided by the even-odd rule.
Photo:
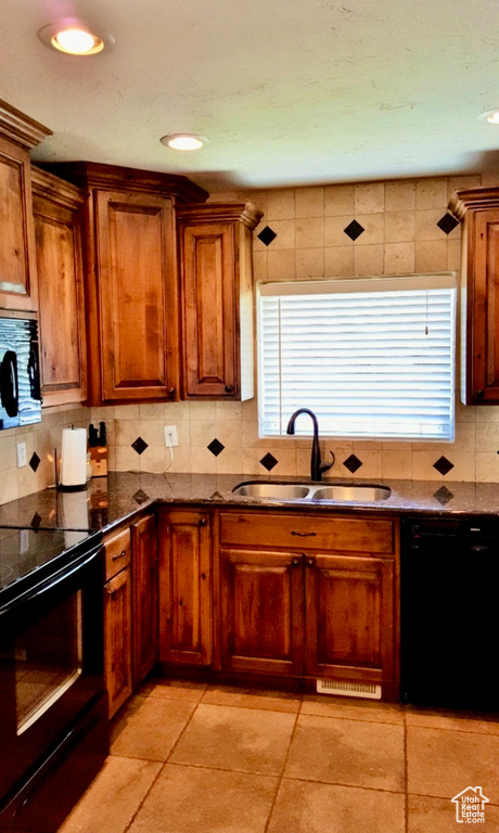
[[[157,535],[155,515],[131,527],[133,571],[133,687],[157,662]]]

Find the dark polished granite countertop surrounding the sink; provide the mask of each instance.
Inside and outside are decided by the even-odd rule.
[[[397,513],[406,515],[499,515],[499,483],[445,483],[442,480],[378,480],[392,489],[379,502],[280,500],[261,501],[232,494],[240,483],[252,480],[294,483],[293,477],[257,477],[238,474],[143,474],[112,472],[95,477],[82,491],[55,489],[29,495],[0,507],[0,527],[34,529],[92,529],[106,531],[131,521],[154,503],[239,507],[311,512]],[[303,482],[306,482],[304,478]],[[323,484],[332,480],[324,478]],[[364,484],[364,480],[341,480]]]

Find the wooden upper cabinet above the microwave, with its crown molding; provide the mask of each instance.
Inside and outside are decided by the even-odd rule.
[[[29,149],[51,130],[0,101],[0,307],[37,310]]]

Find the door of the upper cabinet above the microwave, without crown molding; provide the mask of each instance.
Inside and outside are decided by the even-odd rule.
[[[28,152],[0,137],[0,307],[37,309]]]

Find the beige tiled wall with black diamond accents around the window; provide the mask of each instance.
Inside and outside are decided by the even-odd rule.
[[[459,273],[461,229],[458,226],[448,231],[438,222],[447,214],[453,190],[497,182],[497,178],[485,176],[435,177],[233,192],[213,198],[248,198],[265,212],[255,232],[255,280],[447,270]],[[354,219],[364,229],[355,242],[344,231]],[[269,245],[257,236],[267,226],[276,234]],[[93,408],[91,412],[85,408],[68,411],[66,407],[44,411],[40,426],[0,433],[0,502],[53,482],[50,457],[53,446],[60,444],[64,425],[100,420],[107,427],[111,469],[247,475],[266,475],[269,471],[272,475],[309,473],[310,440],[258,438],[256,399],[242,403],[130,405]],[[163,426],[170,424],[177,425],[179,434],[172,461],[163,437]],[[35,452],[40,458],[36,471],[15,467],[20,434],[27,443],[28,460]],[[138,444],[136,450],[133,444],[139,437],[146,447]],[[212,445],[214,440],[218,444]],[[332,449],[336,456],[336,464],[328,475],[331,477],[499,482],[499,408],[465,408],[458,396],[452,444],[331,439],[323,440],[322,446],[324,453]],[[344,464],[351,456],[360,463],[354,474]],[[440,458],[445,458],[444,465]]]

